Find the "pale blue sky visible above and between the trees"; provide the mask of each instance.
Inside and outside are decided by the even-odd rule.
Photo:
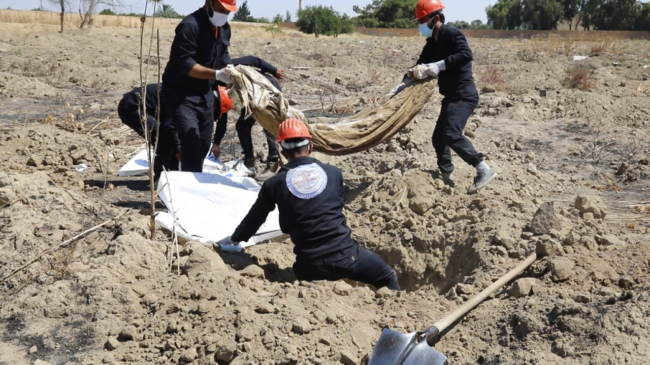
[[[243,2],[243,0],[237,0],[238,4]],[[472,21],[474,19],[481,19],[486,22],[485,7],[496,2],[497,0],[444,1],[445,6],[447,6],[447,8],[445,8],[447,21]],[[55,6],[51,5],[47,0],[0,0],[0,8],[10,6],[13,9],[29,10],[32,8],[38,8],[41,3],[45,9],[55,9]],[[144,10],[144,0],[122,0],[122,3],[127,4],[127,6],[123,8],[124,12],[131,12],[131,9],[133,9],[133,12],[142,12],[142,10]],[[179,14],[187,15],[199,8],[199,6],[203,4],[203,0],[166,0],[164,3],[172,5]],[[335,10],[347,13],[350,16],[356,15],[356,13],[352,11],[353,5],[363,6],[369,3],[372,3],[372,0],[303,0],[302,2],[303,6],[331,5]],[[298,10],[298,0],[248,0],[248,8],[250,8],[252,15],[257,18],[273,18],[276,14],[285,14],[285,12],[289,10],[293,13],[293,18],[295,19],[295,13]],[[413,27],[415,27],[415,25],[413,25]]]

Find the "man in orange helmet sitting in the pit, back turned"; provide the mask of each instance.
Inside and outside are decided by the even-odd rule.
[[[278,142],[289,162],[266,180],[235,233],[220,240],[218,247],[231,251],[229,247],[248,241],[277,205],[280,229],[294,243],[293,271],[299,280],[352,279],[399,290],[395,270],[352,240],[342,210],[343,174],[309,157],[313,145],[304,123],[283,121]]]

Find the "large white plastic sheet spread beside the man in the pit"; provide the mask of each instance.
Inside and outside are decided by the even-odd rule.
[[[180,237],[213,244],[235,231],[257,199],[260,185],[238,171],[219,173],[163,172],[160,199],[170,212],[159,212],[156,222]],[[174,217],[171,212],[174,212]],[[255,236],[242,247],[280,236],[278,209],[270,212]]]

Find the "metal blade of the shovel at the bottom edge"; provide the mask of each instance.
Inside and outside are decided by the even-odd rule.
[[[444,365],[447,357],[421,341],[420,334],[383,329],[368,365]]]

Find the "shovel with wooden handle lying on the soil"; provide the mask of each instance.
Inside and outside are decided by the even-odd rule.
[[[449,325],[472,310],[493,292],[508,281],[519,275],[537,258],[535,253],[521,262],[516,268],[508,271],[499,280],[469,299],[461,307],[447,314],[445,318],[421,332],[399,333],[383,329],[377,344],[374,346],[368,365],[443,365],[447,362],[445,355],[436,351],[432,346],[437,342],[440,333]]]

